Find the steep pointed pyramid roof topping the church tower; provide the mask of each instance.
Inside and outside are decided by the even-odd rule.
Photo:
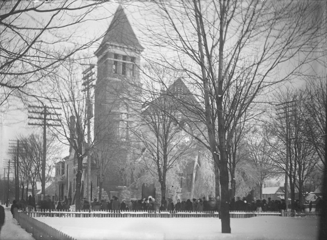
[[[110,23],[109,29],[107,30],[100,47],[96,51],[96,55],[97,52],[106,45],[106,43],[116,46],[135,48],[138,50],[144,49],[138,42],[132,26],[130,25],[121,5],[118,6],[114,18]]]

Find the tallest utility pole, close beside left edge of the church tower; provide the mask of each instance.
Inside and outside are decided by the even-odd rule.
[[[92,104],[91,104],[91,99],[90,99],[90,89],[94,87],[92,82],[95,81],[95,71],[94,71],[94,64],[91,64],[88,69],[83,71],[83,86],[85,86],[85,89],[82,91],[87,92],[87,119],[88,119],[88,184],[87,184],[87,197],[88,201],[91,203],[91,118],[93,117],[93,112],[92,112]]]

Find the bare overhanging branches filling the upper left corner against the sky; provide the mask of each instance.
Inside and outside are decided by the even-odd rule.
[[[103,37],[78,36],[83,26],[102,18],[94,12],[104,2],[1,1],[0,105],[9,107],[11,96],[51,98],[47,86],[54,84],[55,69]]]

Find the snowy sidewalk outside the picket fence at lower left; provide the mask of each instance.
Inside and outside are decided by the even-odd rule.
[[[4,206],[5,207],[5,206]],[[6,220],[0,232],[0,240],[35,240],[30,233],[25,231],[13,218],[10,208],[5,207]]]

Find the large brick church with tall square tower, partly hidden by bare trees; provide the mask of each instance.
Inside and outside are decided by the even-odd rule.
[[[94,149],[92,154],[92,199],[98,198],[97,194],[102,191],[102,198],[111,199],[117,196],[120,200],[141,199],[152,196],[160,199],[158,181],[135,185],[135,178],[126,174],[130,163],[138,161],[146,147],[137,141],[133,134],[133,126],[137,114],[143,114],[144,104],[135,101],[141,95],[142,83],[140,78],[140,56],[144,47],[138,41],[129,21],[120,5],[113,20],[104,36],[104,39],[95,52],[97,56],[97,81],[95,84],[94,104]],[[176,97],[191,96],[182,79],[169,87],[168,92],[176,94]],[[137,111],[139,110],[139,111]],[[181,114],[185,115],[184,114]],[[192,123],[188,124],[192,127]],[[181,133],[181,140],[190,146],[190,137]],[[195,140],[194,140],[195,142]],[[193,197],[196,172],[201,165],[200,150],[197,144],[192,145],[191,156],[183,170],[178,174],[180,186],[178,198],[186,200]],[[73,195],[74,188],[74,162],[71,161],[73,153],[61,162],[62,176],[58,179],[58,194]],[[83,188],[86,188],[87,170],[83,171]],[[169,196],[168,186],[166,196]],[[176,186],[175,186],[176,187]],[[82,191],[86,195],[87,191]],[[73,197],[73,196],[71,196]],[[197,197],[197,196],[194,196]],[[60,199],[59,199],[60,200]]]

